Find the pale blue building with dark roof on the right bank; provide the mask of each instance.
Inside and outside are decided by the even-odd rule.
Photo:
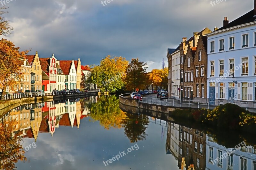
[[[215,28],[208,37],[207,99],[211,105],[256,107],[256,0],[254,10]],[[248,102],[248,105],[246,104]]]

